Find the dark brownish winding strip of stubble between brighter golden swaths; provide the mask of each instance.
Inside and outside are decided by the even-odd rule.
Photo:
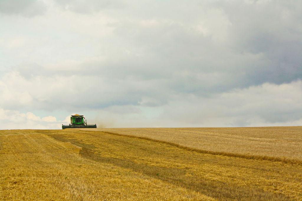
[[[91,144],[82,143],[75,138],[71,138],[70,136],[65,137],[63,134],[47,135],[59,141],[71,142],[77,146],[81,146],[82,150],[79,152],[79,154],[86,159],[131,169],[149,177],[160,179],[180,187],[185,187],[218,200],[292,200],[283,194],[270,193],[262,190],[261,188],[228,184],[198,175],[188,177],[186,175],[187,170],[183,168],[166,168],[154,165],[138,164],[128,159],[103,157],[101,154],[94,152],[95,147]],[[121,136],[121,138],[124,138],[125,143],[127,143],[128,137]],[[125,151],[127,150],[125,149]],[[148,151],[148,147],[146,147],[146,151]]]

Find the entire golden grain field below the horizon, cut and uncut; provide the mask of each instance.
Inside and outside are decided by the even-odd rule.
[[[231,128],[215,129],[205,128],[237,135],[239,140],[261,139],[260,131],[248,134],[253,133],[249,128],[242,136]],[[293,132],[301,134],[300,127],[283,129],[287,130],[284,141],[292,139]],[[148,129],[0,130],[0,199],[302,200],[300,163],[204,153],[198,151],[201,146],[194,147],[204,144],[202,140],[207,138],[203,137],[191,139],[191,143],[182,139],[187,144],[173,141],[175,133],[198,136],[200,130],[149,129],[149,135]],[[222,146],[225,135],[207,142],[221,141],[219,149],[210,151],[246,153],[240,147]],[[275,136],[278,141],[280,133],[262,136]],[[272,152],[271,148],[252,148],[257,155]],[[282,149],[275,152],[270,157],[300,160],[299,155],[285,155]]]

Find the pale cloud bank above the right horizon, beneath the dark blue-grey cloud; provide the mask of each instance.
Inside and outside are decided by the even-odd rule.
[[[264,83],[210,98],[179,98],[165,107],[162,118],[198,127],[300,124],[301,98],[301,80],[281,85]]]

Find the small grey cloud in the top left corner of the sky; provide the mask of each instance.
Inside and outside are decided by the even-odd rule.
[[[0,1],[0,13],[21,14],[25,17],[42,15],[47,10],[46,5],[37,0],[2,0]]]

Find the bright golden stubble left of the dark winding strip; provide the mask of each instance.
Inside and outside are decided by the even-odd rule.
[[[33,130],[0,133],[0,200],[213,200],[131,169],[84,158],[79,154],[82,147],[71,141]]]

